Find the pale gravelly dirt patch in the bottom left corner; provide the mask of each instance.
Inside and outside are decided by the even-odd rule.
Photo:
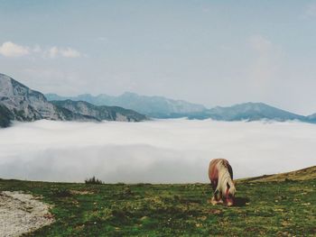
[[[0,236],[19,236],[53,223],[49,205],[22,192],[0,193]]]

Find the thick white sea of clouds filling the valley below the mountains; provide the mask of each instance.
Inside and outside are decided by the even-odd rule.
[[[315,165],[315,144],[309,123],[14,123],[0,129],[0,178],[209,182],[211,159],[229,160],[234,178],[253,177]]]

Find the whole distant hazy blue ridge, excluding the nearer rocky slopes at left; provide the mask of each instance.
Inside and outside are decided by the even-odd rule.
[[[87,101],[94,105],[120,105],[131,108],[139,113],[146,114],[154,118],[180,118],[189,119],[213,119],[218,121],[258,121],[274,120],[301,121],[306,123],[316,123],[316,114],[303,116],[276,108],[264,103],[248,102],[244,104],[232,105],[227,107],[216,106],[207,109],[203,105],[191,104],[186,101],[172,100],[162,96],[138,96],[135,93],[125,93],[121,96],[89,94],[65,97],[56,94],[46,95],[48,99],[67,99]],[[108,103],[108,104],[107,104]]]

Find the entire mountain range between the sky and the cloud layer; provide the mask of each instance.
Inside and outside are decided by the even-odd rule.
[[[126,92],[121,96],[43,95],[11,77],[0,74],[0,127],[11,121],[40,119],[60,121],[139,122],[153,118],[213,119],[218,121],[301,121],[316,123],[316,114],[304,116],[264,103],[244,103],[228,107],[206,108],[163,96],[139,96]]]

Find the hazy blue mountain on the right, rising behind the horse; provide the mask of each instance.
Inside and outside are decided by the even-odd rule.
[[[257,121],[266,119],[280,122],[288,120],[308,122],[305,116],[293,114],[264,103],[251,102],[230,107],[217,106],[200,114],[191,114],[189,117],[197,119],[211,118],[220,121]]]

